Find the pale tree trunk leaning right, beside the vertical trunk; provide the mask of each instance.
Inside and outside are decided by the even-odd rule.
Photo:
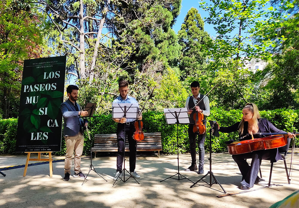
[[[105,23],[105,19],[106,19],[106,15],[107,15],[107,12],[108,12],[109,4],[110,4],[110,0],[107,1],[106,7],[105,7],[104,12],[103,12],[103,13],[105,13],[105,15],[103,15],[103,17],[102,17],[102,19],[100,21],[99,30],[98,30],[98,33],[97,33],[97,41],[95,42],[94,53],[93,53],[93,56],[92,56],[92,59],[91,59],[89,84],[91,84],[91,81],[94,78],[95,61],[97,59],[97,52],[98,52],[98,48],[99,48],[99,44],[100,44],[100,39],[101,39],[101,35],[102,35],[102,29],[103,29],[103,26],[104,26],[104,23]]]

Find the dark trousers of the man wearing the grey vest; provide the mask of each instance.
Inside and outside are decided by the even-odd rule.
[[[207,126],[207,123],[204,123]],[[193,125],[189,125],[188,128],[188,137],[190,143],[190,154],[192,159],[192,164],[196,163],[196,137],[198,137],[198,149],[199,149],[199,166],[203,166],[205,163],[205,135],[204,134],[194,134],[193,133]]]

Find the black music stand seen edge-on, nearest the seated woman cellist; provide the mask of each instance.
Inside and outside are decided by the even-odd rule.
[[[199,181],[204,181],[205,183],[207,183],[208,185],[210,185],[210,187],[213,184],[219,184],[219,186],[222,188],[222,190],[224,191],[224,193],[226,193],[226,191],[224,190],[224,188],[221,186],[221,184],[219,183],[219,181],[217,180],[217,178],[215,177],[215,175],[212,172],[212,135],[215,137],[219,137],[219,131],[218,131],[218,126],[217,126],[217,122],[216,121],[209,121],[210,122],[210,171],[208,171],[208,173],[204,176],[202,176],[202,178],[200,178],[198,181],[196,181],[192,186],[190,186],[190,188],[192,188],[195,184],[197,184]],[[210,183],[206,182],[205,180],[203,180],[203,178],[205,178],[207,175],[210,175]],[[212,177],[213,177],[213,182],[212,182]]]

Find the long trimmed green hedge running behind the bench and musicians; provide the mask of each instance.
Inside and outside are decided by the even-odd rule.
[[[299,129],[299,110],[292,109],[276,109],[271,111],[260,111],[263,118],[268,119],[278,129],[284,131],[292,131],[295,127]],[[208,120],[217,120],[220,126],[230,126],[242,117],[241,110],[226,111],[222,108],[211,109],[211,115]],[[146,112],[143,114],[144,132],[161,132],[163,152],[167,154],[176,154],[176,125],[167,125],[164,115],[161,112]],[[89,149],[93,142],[94,134],[112,134],[116,132],[117,124],[112,120],[111,114],[102,115],[101,117],[89,118],[89,131],[91,142],[85,132],[85,142],[83,154],[89,155]],[[179,125],[179,153],[186,153],[189,149],[188,142],[188,125]],[[207,126],[207,131],[210,125]],[[0,154],[14,153],[16,144],[16,129],[17,119],[0,119]],[[236,139],[238,133],[231,134],[220,133],[220,137],[212,137],[212,152],[226,152],[227,148],[225,141]],[[209,134],[205,141],[205,149],[208,150]],[[299,146],[297,139],[296,146]],[[55,155],[65,155],[65,141],[62,138],[62,149],[60,152],[55,152]]]

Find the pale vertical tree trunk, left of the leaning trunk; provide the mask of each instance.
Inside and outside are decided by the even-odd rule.
[[[85,46],[84,46],[84,24],[83,24],[83,0],[80,0],[80,77],[81,79],[86,78],[85,69]]]

